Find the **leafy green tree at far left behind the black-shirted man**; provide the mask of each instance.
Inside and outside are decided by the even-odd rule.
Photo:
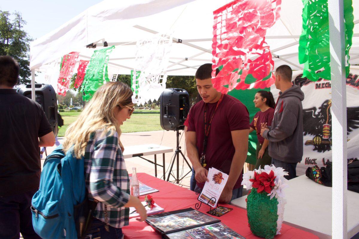
[[[0,10],[0,55],[11,56],[20,66],[18,85],[30,83],[29,43],[33,40],[23,29],[26,21],[18,11]]]

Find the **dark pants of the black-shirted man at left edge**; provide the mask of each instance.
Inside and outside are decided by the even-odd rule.
[[[25,182],[24,182],[25,183]],[[0,238],[41,239],[32,227],[31,199],[36,190],[0,197]]]

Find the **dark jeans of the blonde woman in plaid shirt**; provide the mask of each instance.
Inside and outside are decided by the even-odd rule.
[[[109,226],[109,231],[105,229],[105,223],[94,218],[85,239],[122,239],[122,229]]]

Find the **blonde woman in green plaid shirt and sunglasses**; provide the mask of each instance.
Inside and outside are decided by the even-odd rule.
[[[85,157],[89,199],[99,201],[85,238],[123,238],[121,228],[129,224],[129,207],[140,214],[137,220],[147,217],[140,200],[129,195],[129,175],[120,142],[120,125],[134,111],[131,96],[130,87],[122,82],[104,84],[65,133],[64,150],[74,146],[74,155]]]

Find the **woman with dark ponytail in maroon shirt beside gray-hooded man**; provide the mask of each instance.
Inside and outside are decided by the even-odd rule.
[[[272,124],[275,102],[272,93],[264,90],[260,90],[256,93],[253,102],[254,106],[260,109],[250,124],[250,132],[253,130],[257,132],[257,163],[255,168],[258,169],[259,167],[264,168],[265,165],[270,165],[272,161],[272,158],[268,154],[269,141],[264,139],[260,133],[261,123],[267,123],[267,125]]]

